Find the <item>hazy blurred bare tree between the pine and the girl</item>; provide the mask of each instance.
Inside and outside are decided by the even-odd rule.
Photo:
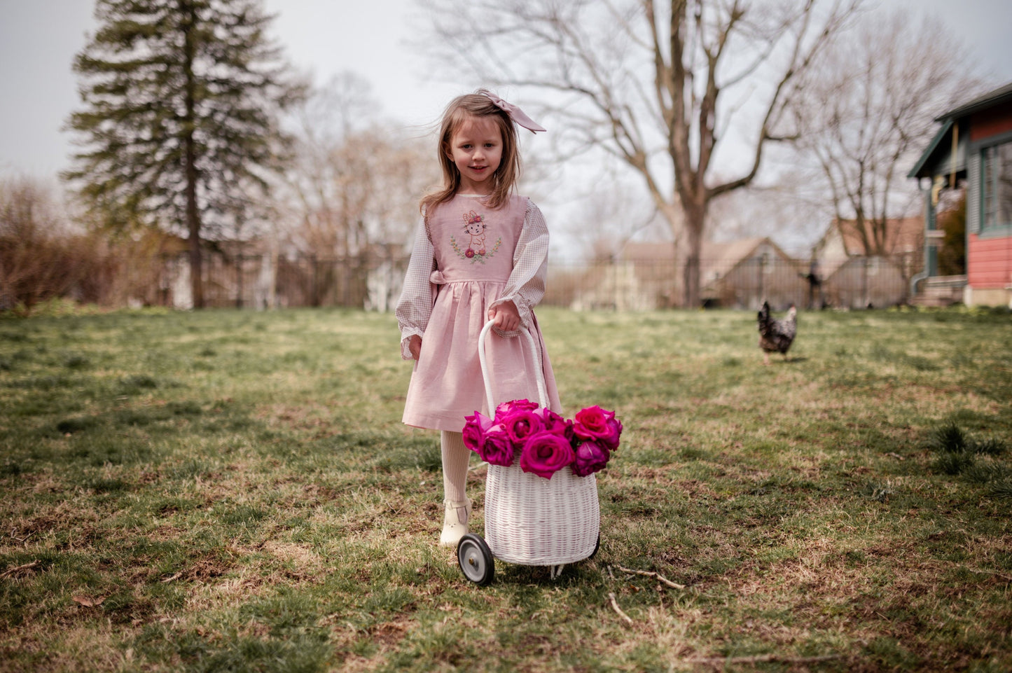
[[[366,82],[343,74],[300,109],[296,161],[277,208],[293,248],[315,264],[330,260],[314,280],[314,297],[340,285],[338,268],[364,288],[376,267],[396,265],[420,217],[418,200],[435,181],[429,144],[381,120],[377,107]]]

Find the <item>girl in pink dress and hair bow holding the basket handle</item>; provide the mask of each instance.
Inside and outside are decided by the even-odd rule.
[[[559,394],[533,307],[544,296],[549,231],[537,206],[513,193],[520,172],[514,122],[544,131],[518,107],[485,89],[450,101],[439,131],[443,186],[421,202],[422,222],[397,306],[401,354],[414,359],[404,423],[440,430],[444,516],[440,544],[468,532],[465,493],[471,451],[463,417],[487,409],[478,359],[478,334],[494,321],[486,342],[497,403],[536,398],[534,353],[541,351],[550,407]]]

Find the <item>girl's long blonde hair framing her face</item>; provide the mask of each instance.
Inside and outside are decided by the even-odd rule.
[[[492,193],[486,202],[491,208],[502,206],[509,198],[510,192],[520,177],[520,150],[516,140],[516,128],[513,119],[502,108],[496,106],[485,94],[488,89],[479,89],[475,93],[457,96],[449,101],[443,111],[442,123],[439,127],[439,166],[442,168],[443,186],[426,194],[422,198],[421,212],[431,213],[440,203],[453,198],[460,188],[460,171],[450,156],[450,141],[453,134],[469,117],[492,117],[499,127],[503,137],[503,153],[499,168],[490,177]]]

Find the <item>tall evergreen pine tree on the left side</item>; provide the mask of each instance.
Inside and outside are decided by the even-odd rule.
[[[250,217],[285,158],[280,112],[304,94],[259,0],[98,0],[77,55],[83,150],[65,177],[112,230],[189,238],[193,306],[201,239]]]

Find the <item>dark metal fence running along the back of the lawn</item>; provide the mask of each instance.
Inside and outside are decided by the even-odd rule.
[[[757,309],[882,308],[909,301],[910,270],[884,258],[852,258],[826,278],[808,265],[786,260],[746,259],[718,274],[703,260],[700,296],[705,307]],[[207,307],[357,307],[392,311],[408,259],[403,254],[352,258],[311,255],[221,255],[203,260]],[[82,279],[75,299],[105,306],[190,308],[185,255],[109,258]],[[550,264],[542,304],[575,310],[640,311],[682,308],[683,272],[673,261]]]

